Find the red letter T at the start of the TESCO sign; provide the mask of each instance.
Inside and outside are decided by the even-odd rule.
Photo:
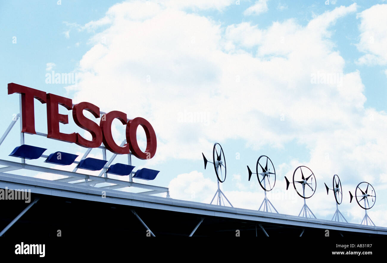
[[[9,83],[8,94],[12,93],[22,94],[22,132],[36,134],[34,98],[42,103],[46,103],[46,92],[15,83]]]

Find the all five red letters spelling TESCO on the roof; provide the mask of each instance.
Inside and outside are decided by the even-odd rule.
[[[22,132],[36,134],[34,118],[34,99],[47,104],[47,138],[53,138],[65,142],[74,142],[77,145],[87,148],[96,148],[103,144],[115,154],[132,153],[139,159],[151,159],[156,154],[156,133],[152,125],[144,118],[137,117],[127,121],[127,115],[121,111],[110,111],[103,114],[99,121],[99,126],[94,121],[86,118],[83,110],[89,111],[96,119],[100,118],[98,106],[90,102],[80,102],[73,106],[72,99],[58,96],[30,87],[15,83],[8,84],[8,94],[21,94],[22,103]],[[59,131],[59,123],[68,124],[68,115],[59,113],[59,105],[69,111],[72,110],[74,122],[82,129],[87,130],[92,135],[92,140],[86,140],[79,133],[62,133]],[[127,143],[120,147],[117,145],[111,134],[111,123],[114,119],[121,121],[126,125]],[[147,145],[146,150],[142,152],[137,143],[137,127],[141,125],[144,128]]]

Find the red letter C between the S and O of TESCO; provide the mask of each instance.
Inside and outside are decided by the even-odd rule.
[[[121,111],[111,111],[110,113],[107,113],[106,120],[103,120],[102,118],[99,122],[99,126],[101,127],[103,134],[103,144],[106,148],[115,154],[128,154],[130,152],[129,143],[126,143],[123,147],[120,147],[114,142],[113,136],[111,135],[111,123],[115,118],[120,120],[123,125],[127,124],[127,117],[125,113]]]

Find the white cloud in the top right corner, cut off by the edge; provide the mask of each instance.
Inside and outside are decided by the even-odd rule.
[[[359,51],[366,53],[357,61],[365,65],[387,64],[387,4],[373,5],[358,14],[361,19],[359,26]]]

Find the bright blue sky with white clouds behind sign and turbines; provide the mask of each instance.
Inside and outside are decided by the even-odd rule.
[[[148,120],[156,155],[132,163],[161,172],[154,181],[134,181],[169,187],[171,198],[211,202],[217,179],[211,166],[204,169],[202,152],[212,159],[218,142],[227,165],[221,189],[234,207],[259,208],[264,191],[256,178],[248,181],[246,166],[255,172],[267,155],[276,171],[267,195],[279,213],[301,210],[303,200],[292,186],[286,191],[284,176],[291,181],[303,165],[317,181],[307,199],[317,218],[330,220],[336,210],[324,183],[331,187],[337,174],[344,217],[360,224],[364,210],[349,203],[348,191],[367,181],[377,193],[368,215],[387,227],[386,13],[382,0],[3,1],[1,129],[19,112],[18,95],[7,95],[14,82]],[[51,83],[53,73],[73,81]],[[36,130],[47,132],[45,105],[34,103]],[[70,111],[60,113],[70,115],[61,132],[90,136]],[[113,124],[119,144],[125,126]],[[18,129],[0,146],[1,159],[18,161],[8,156],[20,144]],[[144,149],[141,129],[137,137]],[[51,152],[85,152],[38,135],[25,139]],[[102,158],[101,150],[90,156]]]

